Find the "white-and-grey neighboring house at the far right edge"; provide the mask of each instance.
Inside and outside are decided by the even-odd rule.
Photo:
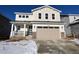
[[[71,34],[79,38],[79,14],[71,14],[69,15],[70,18],[70,27],[71,27]]]

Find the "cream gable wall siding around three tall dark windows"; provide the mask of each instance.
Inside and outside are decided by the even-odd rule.
[[[38,13],[42,13],[42,19],[38,18]],[[48,20],[45,19],[45,13],[48,13]],[[52,19],[52,14],[55,14],[55,19]],[[33,12],[33,20],[41,20],[41,21],[60,21],[60,13],[50,9],[50,8],[43,8],[38,11]]]

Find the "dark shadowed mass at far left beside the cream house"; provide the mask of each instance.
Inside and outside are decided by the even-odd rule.
[[[0,14],[0,40],[9,39],[11,24],[10,19]]]

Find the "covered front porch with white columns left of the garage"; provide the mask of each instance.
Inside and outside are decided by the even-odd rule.
[[[14,24],[11,29],[12,36],[32,35],[32,24]]]

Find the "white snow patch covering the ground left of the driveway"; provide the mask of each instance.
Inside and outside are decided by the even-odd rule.
[[[36,54],[37,45],[33,40],[0,42],[0,54]]]

